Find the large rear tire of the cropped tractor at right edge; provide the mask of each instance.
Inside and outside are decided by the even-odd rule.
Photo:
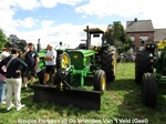
[[[153,72],[153,62],[151,51],[138,50],[135,58],[135,82],[142,83],[143,74],[146,72]]]

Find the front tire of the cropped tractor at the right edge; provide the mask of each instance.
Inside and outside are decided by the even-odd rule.
[[[146,106],[155,107],[157,102],[157,82],[153,73],[143,75],[142,100]]]

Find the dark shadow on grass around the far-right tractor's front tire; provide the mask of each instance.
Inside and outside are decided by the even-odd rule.
[[[166,120],[166,83],[158,84],[157,104],[155,107],[145,106],[142,102],[141,85],[124,94],[124,100],[117,106],[118,118],[138,118],[151,124],[164,123]],[[129,87],[127,89],[129,90]],[[147,118],[147,120],[145,120]],[[136,121],[136,120],[135,120]]]

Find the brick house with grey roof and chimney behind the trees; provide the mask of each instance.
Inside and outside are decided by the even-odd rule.
[[[126,35],[133,41],[132,51],[142,46],[142,41],[156,42],[166,38],[166,29],[154,29],[152,20],[137,20],[126,22]]]

